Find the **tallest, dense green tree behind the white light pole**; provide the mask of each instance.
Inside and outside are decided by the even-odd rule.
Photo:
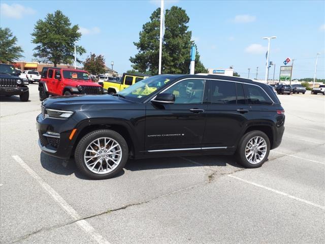
[[[185,10],[176,6],[166,10],[161,73],[189,73],[190,48],[195,43],[191,41],[192,33],[188,31],[188,21],[189,17]],[[129,60],[133,63],[132,67],[139,72],[150,71],[152,75],[158,73],[159,26],[160,8],[156,9],[151,14],[150,21],[143,25],[139,42],[134,42],[138,53]],[[195,72],[207,73],[198,52]]]

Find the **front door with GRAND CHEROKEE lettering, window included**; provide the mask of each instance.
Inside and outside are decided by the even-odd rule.
[[[200,151],[205,127],[204,79],[179,81],[163,91],[174,94],[175,103],[146,106],[147,153]]]

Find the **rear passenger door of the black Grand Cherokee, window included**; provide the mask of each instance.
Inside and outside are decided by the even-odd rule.
[[[217,152],[233,148],[245,126],[248,113],[249,108],[241,83],[209,80],[203,150]]]

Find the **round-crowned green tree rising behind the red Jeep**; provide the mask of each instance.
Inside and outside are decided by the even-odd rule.
[[[54,14],[47,14],[45,20],[38,20],[31,34],[32,43],[37,44],[34,48],[34,56],[42,62],[57,64],[72,64],[74,60],[74,42],[81,37],[79,26],[71,26],[69,18],[60,10]],[[82,55],[86,50],[76,47],[76,52]],[[81,61],[77,58],[77,62]]]

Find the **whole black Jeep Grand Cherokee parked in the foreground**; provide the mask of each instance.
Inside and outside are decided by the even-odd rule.
[[[158,75],[112,95],[55,97],[37,117],[44,153],[95,179],[128,158],[233,155],[261,166],[280,145],[284,110],[270,85],[217,75]]]

